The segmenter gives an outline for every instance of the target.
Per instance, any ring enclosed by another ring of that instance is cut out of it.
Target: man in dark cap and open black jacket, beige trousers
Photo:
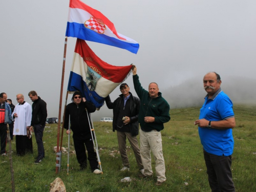
[[[121,95],[111,102],[110,96],[105,98],[106,106],[113,109],[113,132],[117,131],[117,140],[120,155],[123,162],[123,170],[130,170],[129,160],[126,154],[126,137],[129,140],[137,165],[143,173],[143,165],[140,157],[140,149],[138,145],[137,135],[139,134],[138,114],[140,109],[140,100],[134,97],[126,83],[120,86]]]

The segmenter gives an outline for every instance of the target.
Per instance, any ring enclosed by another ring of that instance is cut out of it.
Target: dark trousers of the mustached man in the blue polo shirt
[[[204,151],[208,181],[212,192],[234,192],[231,155],[217,156]]]

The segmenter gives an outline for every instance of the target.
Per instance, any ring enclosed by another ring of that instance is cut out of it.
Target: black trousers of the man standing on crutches
[[[73,134],[74,146],[76,151],[76,158],[80,167],[87,166],[87,155],[88,160],[92,169],[92,172],[98,168],[97,154],[94,151],[94,145],[91,134]]]

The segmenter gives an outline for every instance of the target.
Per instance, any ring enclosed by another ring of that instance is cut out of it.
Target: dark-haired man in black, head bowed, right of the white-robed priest
[[[42,158],[45,158],[45,148],[44,142],[42,142],[42,135],[46,126],[47,108],[46,102],[38,97],[35,91],[30,91],[28,95],[31,101],[33,101],[30,130],[34,130],[35,132],[38,156],[34,163],[38,164],[42,161]]]

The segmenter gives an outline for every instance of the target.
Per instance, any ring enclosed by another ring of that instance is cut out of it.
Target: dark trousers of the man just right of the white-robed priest
[[[35,140],[37,143],[38,158],[45,157],[44,143],[42,142],[42,135],[44,134],[45,125],[35,124],[34,126]]]

